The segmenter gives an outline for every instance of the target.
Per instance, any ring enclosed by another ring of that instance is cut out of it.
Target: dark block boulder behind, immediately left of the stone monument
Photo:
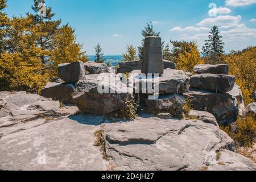
[[[118,64],[117,73],[130,73],[134,70],[141,70],[142,60],[124,61]]]

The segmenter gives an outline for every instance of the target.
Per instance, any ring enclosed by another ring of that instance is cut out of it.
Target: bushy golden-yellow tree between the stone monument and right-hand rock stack
[[[203,64],[200,52],[196,42],[171,41],[174,48],[172,49],[172,57],[176,63],[177,69],[185,70],[193,73],[196,64]]]

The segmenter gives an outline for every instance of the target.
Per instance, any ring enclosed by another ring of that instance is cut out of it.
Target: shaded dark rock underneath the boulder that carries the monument
[[[148,111],[152,113],[168,112],[174,118],[182,118],[185,97],[179,94],[159,96],[156,100],[146,99],[145,104]]]

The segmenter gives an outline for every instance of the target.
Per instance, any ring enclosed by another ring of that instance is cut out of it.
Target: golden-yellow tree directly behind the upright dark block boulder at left
[[[61,63],[72,63],[73,61],[87,62],[86,52],[81,51],[82,44],[76,43],[75,30],[68,24],[60,27],[54,36],[56,44],[52,52],[53,76],[57,76],[57,68]]]

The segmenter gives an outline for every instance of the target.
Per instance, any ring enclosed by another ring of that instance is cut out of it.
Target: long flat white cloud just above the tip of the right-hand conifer
[[[239,23],[241,21],[241,19],[242,19],[241,15],[237,15],[237,16],[230,16],[230,15],[217,16],[215,18],[203,19],[197,25],[199,25],[199,26],[214,26],[214,25],[228,26],[230,24]]]

